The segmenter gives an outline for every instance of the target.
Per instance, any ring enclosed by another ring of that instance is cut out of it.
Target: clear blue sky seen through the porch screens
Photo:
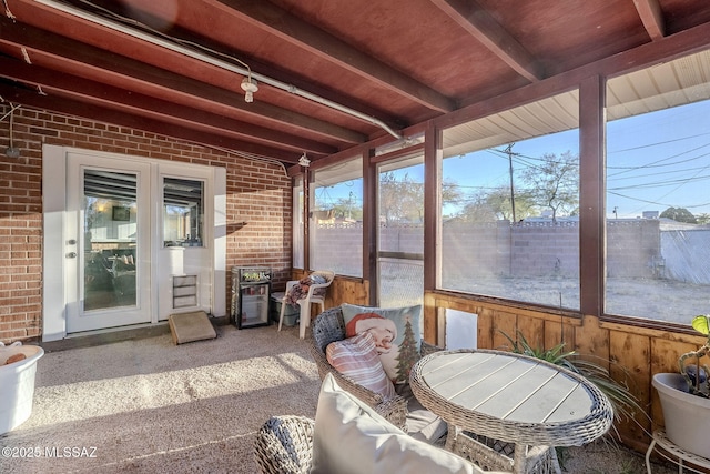
[[[509,163],[499,150],[484,150],[446,159],[445,180],[466,192],[509,185]],[[521,171],[545,153],[577,154],[578,131],[571,130],[515,143],[514,185],[523,188]],[[498,151],[496,151],[498,150]],[[635,115],[607,124],[607,216],[638,218],[669,206],[686,208],[694,215],[710,213],[710,101]],[[405,170],[424,181],[424,167]],[[398,173],[404,175],[404,172]],[[338,198],[362,203],[362,190],[353,182],[320,191],[324,204]],[[445,213],[450,212],[445,210]]]

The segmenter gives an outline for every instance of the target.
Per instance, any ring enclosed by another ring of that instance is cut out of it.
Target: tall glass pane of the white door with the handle
[[[84,170],[84,311],[135,305],[136,175]]]

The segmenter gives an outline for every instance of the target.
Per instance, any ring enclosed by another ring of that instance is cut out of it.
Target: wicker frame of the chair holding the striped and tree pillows
[[[397,395],[393,399],[385,400],[381,394],[357,384],[352,379],[339,373],[326,359],[325,347],[332,342],[345,339],[345,322],[343,321],[343,311],[341,307],[337,306],[324,311],[315,319],[311,327],[311,343],[308,344],[308,349],[318,369],[321,380],[328,373],[333,374],[339,386],[373,407],[389,423],[409,433],[407,430],[407,415],[409,414],[408,397]],[[419,352],[424,356],[440,350],[440,347],[422,341]]]

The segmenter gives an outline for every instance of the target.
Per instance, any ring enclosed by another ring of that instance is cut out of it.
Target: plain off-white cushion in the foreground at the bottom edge
[[[448,451],[413,438],[356,396],[333,375],[323,380],[315,414],[315,474],[481,473]]]

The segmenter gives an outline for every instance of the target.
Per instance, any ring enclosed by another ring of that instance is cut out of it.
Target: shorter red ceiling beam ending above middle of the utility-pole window
[[[539,61],[475,0],[432,0],[452,20],[530,82],[545,79]]]

